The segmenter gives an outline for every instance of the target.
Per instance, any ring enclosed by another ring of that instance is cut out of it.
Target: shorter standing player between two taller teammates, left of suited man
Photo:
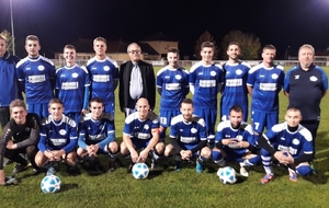
[[[88,113],[90,79],[84,67],[76,63],[76,48],[64,47],[66,65],[56,71],[56,96],[63,101],[65,115],[79,123],[81,114]]]

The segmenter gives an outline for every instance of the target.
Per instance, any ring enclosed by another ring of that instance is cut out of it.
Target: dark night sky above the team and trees
[[[10,0],[0,0],[0,31],[10,27]],[[329,47],[329,0],[12,0],[16,41],[41,38],[42,53],[79,37],[122,37],[137,42],[157,32],[180,41],[192,55],[198,36],[209,31],[219,46],[231,30],[273,44],[279,57],[287,46]]]

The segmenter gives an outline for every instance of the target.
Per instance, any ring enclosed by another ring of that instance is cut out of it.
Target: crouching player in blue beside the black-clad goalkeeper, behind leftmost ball
[[[52,99],[48,104],[50,115],[42,120],[39,151],[35,155],[35,163],[39,167],[48,167],[47,175],[56,173],[58,161],[65,160],[68,164],[67,172],[78,173],[76,167],[76,145],[78,140],[76,122],[64,115],[63,102]]]

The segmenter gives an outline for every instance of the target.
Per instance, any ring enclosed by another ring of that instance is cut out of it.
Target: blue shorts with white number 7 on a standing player
[[[251,112],[252,129],[261,134],[264,128],[271,129],[279,123],[279,113]]]

